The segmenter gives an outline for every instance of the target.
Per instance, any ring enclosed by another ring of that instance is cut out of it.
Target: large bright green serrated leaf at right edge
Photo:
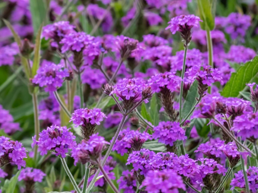
[[[246,83],[252,82],[258,73],[258,56],[254,57],[252,61],[245,63],[232,73],[229,81],[223,88],[221,95],[225,97],[237,97],[240,91],[246,87]]]

